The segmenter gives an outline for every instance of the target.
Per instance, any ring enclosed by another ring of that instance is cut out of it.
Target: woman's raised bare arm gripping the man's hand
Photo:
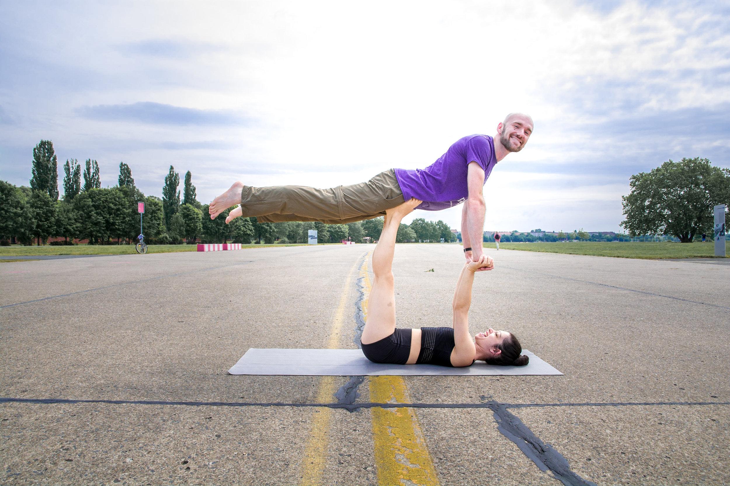
[[[469,334],[469,307],[472,305],[474,273],[480,268],[491,270],[493,267],[494,262],[491,257],[482,256],[479,262],[465,264],[456,282],[456,290],[451,303],[454,328],[454,349],[451,352],[451,364],[455,367],[468,367],[477,354],[472,335]]]

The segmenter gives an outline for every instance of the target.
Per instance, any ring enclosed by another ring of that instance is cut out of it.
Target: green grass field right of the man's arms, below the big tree
[[[730,243],[725,243],[725,254],[730,255]],[[496,248],[484,243],[484,248]],[[715,246],[707,243],[639,243],[639,242],[580,242],[580,243],[499,243],[499,248],[520,251],[543,251],[574,255],[616,256],[618,258],[712,258]]]

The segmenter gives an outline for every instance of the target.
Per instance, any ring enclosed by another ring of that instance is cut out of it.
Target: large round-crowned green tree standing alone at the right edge
[[[631,176],[623,196],[621,226],[629,235],[673,235],[690,243],[694,235],[712,232],[712,206],[730,203],[730,169],[695,157],[669,160],[650,172]]]

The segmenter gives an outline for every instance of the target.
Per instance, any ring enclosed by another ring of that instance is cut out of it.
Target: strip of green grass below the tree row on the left
[[[304,246],[289,245],[242,245],[241,248],[263,248],[266,246]],[[170,253],[173,251],[197,251],[197,245],[150,245],[147,253]],[[74,245],[74,246],[0,246],[0,259],[3,256],[37,256],[37,255],[127,255],[134,254],[134,245]],[[18,260],[12,260],[18,262]]]

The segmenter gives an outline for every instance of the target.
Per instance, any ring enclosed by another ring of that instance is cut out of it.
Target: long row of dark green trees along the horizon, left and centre
[[[377,240],[383,230],[383,218],[349,224],[320,222],[259,223],[239,217],[226,224],[228,210],[210,219],[208,205],[197,200],[192,173],[185,173],[183,197],[180,198],[180,175],[170,165],[162,188],[162,197],[145,196],[134,184],[131,168],[119,164],[118,184],[101,187],[99,163],[87,159],[82,171],[76,159],[64,164],[64,195],[58,191],[58,160],[51,141],[42,140],[33,150],[30,187],[16,187],[0,181],[0,243],[9,245],[16,239],[23,245],[45,244],[49,238],[64,238],[53,244],[134,243],[139,234],[137,203],[145,203],[143,231],[151,244],[195,243],[307,243],[309,230],[318,230],[318,240],[336,243],[348,238],[362,243],[364,238]],[[83,179],[83,182],[82,182]],[[414,219],[401,224],[396,236],[399,243],[451,242],[456,240],[445,222]]]

